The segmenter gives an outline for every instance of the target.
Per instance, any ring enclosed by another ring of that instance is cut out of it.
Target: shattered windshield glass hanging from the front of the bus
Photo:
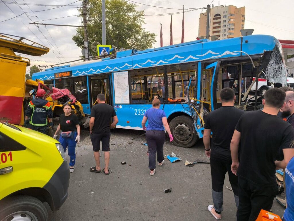
[[[271,83],[285,85],[287,82],[287,71],[284,64],[282,46],[278,42],[270,55],[270,61],[266,67],[265,74]]]

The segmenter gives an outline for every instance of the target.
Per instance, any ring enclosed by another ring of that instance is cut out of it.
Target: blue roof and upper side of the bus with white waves
[[[54,78],[55,73],[59,72],[71,71],[72,76],[84,76],[184,62],[240,57],[245,56],[245,53],[258,55],[263,54],[264,51],[273,50],[277,43],[279,44],[278,40],[269,35],[250,35],[217,41],[201,39],[143,51],[136,50],[129,52],[128,56],[120,56],[120,52],[117,52],[116,58],[113,59],[92,60],[81,62],[79,65],[55,67],[45,72],[34,73],[32,79],[50,80]]]

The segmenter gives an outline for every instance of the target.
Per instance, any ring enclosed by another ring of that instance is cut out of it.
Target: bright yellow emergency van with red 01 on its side
[[[68,195],[69,165],[55,139],[0,123],[0,221],[47,221]]]

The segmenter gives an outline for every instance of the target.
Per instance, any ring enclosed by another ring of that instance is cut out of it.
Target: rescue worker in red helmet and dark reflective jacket
[[[44,99],[45,94],[44,89],[38,89],[36,98],[29,102],[25,112],[24,126],[47,134],[47,117],[49,118],[49,126],[53,126],[53,112],[50,103]]]

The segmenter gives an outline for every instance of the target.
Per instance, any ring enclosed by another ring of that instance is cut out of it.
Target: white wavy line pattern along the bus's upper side
[[[207,57],[205,58],[206,59],[209,59],[209,58],[219,58],[219,57],[222,57],[224,55],[238,55],[238,53],[234,53],[234,52],[230,52],[230,51],[225,51],[223,52],[222,54],[220,54],[220,52],[213,52],[211,50],[208,50],[207,52],[205,52],[204,54],[202,55],[195,55],[196,57],[194,57],[193,55],[188,55],[188,56],[179,56],[179,55],[174,55],[172,58],[169,58],[169,59],[163,59],[163,60],[159,60],[159,61],[152,61],[150,59],[148,59],[147,61],[143,62],[143,63],[138,63],[138,64],[135,64],[135,65],[130,65],[128,63],[125,63],[123,66],[118,66],[118,67],[109,67],[108,65],[103,68],[103,69],[97,69],[97,70],[94,70],[94,69],[90,69],[88,71],[83,71],[83,72],[80,72],[80,71],[76,71],[73,73],[73,76],[75,75],[87,75],[87,74],[96,74],[97,72],[112,72],[114,70],[121,70],[123,69],[124,67],[128,67],[129,69],[133,69],[135,67],[143,67],[143,65],[146,65],[147,63],[151,63],[152,66],[156,66],[156,65],[159,65],[161,63],[163,64],[168,64],[168,63],[175,63],[175,62],[185,62],[189,59],[193,59],[193,60],[198,60],[198,59],[201,59],[201,57],[204,57],[208,54],[211,54],[210,57]],[[220,54],[220,55],[219,55]],[[215,55],[215,56],[213,56]],[[175,60],[176,59],[176,60]],[[180,59],[183,59],[183,60],[180,60]],[[173,61],[173,62],[172,62]],[[48,80],[48,79],[52,79],[54,78],[53,76],[50,76],[50,77],[47,77],[46,75],[43,77],[43,78],[40,78],[40,80]]]

